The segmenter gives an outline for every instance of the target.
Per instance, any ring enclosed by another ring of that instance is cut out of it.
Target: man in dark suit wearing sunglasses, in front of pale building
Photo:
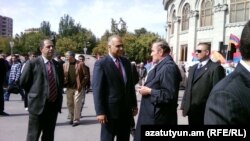
[[[198,44],[195,53],[200,63],[189,69],[181,109],[183,116],[188,115],[189,125],[203,125],[207,98],[215,84],[225,77],[225,70],[209,59],[209,44]]]

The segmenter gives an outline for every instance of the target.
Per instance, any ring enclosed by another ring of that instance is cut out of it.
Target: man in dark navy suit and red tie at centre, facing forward
[[[108,39],[109,55],[98,60],[93,72],[93,95],[101,141],[128,141],[131,118],[137,114],[131,63],[123,55],[121,37]]]

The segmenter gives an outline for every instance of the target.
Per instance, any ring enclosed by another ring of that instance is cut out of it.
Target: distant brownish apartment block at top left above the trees
[[[12,18],[0,15],[0,36],[12,37],[13,20]]]

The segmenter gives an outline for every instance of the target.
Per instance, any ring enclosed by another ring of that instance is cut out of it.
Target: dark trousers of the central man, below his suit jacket
[[[102,124],[101,141],[129,141],[130,119],[108,119],[107,124]]]

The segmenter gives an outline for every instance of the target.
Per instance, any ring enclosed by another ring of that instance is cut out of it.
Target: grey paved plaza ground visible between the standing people
[[[179,94],[178,102],[180,105],[183,90]],[[140,104],[140,96],[137,95],[137,98],[138,104]],[[68,110],[66,95],[64,94],[62,113],[58,115],[55,130],[55,141],[100,140],[100,124],[96,121],[92,93],[86,95],[85,103],[80,125],[72,127],[67,119]],[[0,141],[25,141],[28,127],[28,112],[24,109],[20,95],[12,94],[10,96],[10,101],[5,102],[5,112],[9,113],[10,116],[0,116]],[[187,119],[181,116],[179,108],[178,115],[178,123],[187,124]],[[133,140],[132,136],[131,140]]]

